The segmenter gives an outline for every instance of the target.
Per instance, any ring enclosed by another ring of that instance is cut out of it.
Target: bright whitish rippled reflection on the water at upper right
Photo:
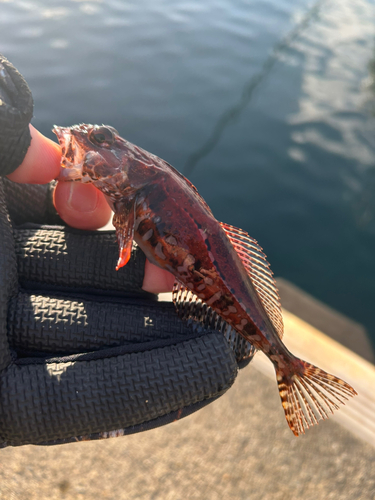
[[[343,0],[340,7],[338,11],[328,3],[321,22],[294,45],[304,56],[304,71],[299,110],[288,122],[297,126],[293,140],[300,145],[313,144],[373,165],[375,143],[363,137],[373,123],[364,123],[361,87],[367,77],[366,39],[373,37],[374,7],[361,0]]]

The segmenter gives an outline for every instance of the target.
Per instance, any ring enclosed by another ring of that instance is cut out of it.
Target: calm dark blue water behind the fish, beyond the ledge
[[[0,1],[33,123],[166,159],[375,342],[373,0]]]

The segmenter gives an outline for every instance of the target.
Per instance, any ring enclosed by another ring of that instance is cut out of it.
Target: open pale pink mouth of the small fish
[[[71,127],[58,127],[52,129],[57,136],[62,150],[61,169],[56,180],[58,181],[90,181],[83,176],[85,153],[77,138],[72,133]]]

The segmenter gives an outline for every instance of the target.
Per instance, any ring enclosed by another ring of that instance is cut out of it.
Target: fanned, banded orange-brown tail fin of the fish
[[[304,434],[318,420],[329,417],[339,404],[355,396],[356,391],[346,382],[324,370],[301,362],[299,373],[285,375],[276,370],[281,403],[289,427],[295,436]]]

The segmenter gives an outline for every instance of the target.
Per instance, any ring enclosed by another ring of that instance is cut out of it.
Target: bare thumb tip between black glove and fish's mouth
[[[47,184],[60,172],[61,148],[31,124],[31,143],[21,165],[7,177],[13,182]]]

